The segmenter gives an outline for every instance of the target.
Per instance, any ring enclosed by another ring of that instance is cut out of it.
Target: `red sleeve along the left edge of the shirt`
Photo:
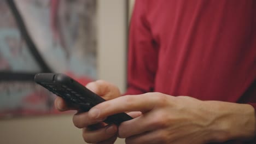
[[[136,1],[129,31],[128,87],[125,94],[154,91],[158,44],[152,36],[146,13],[147,1]]]

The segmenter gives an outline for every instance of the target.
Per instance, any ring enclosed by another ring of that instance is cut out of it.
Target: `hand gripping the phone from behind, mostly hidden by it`
[[[100,95],[105,100],[120,97],[118,87],[112,83],[103,80],[97,80],[88,83],[86,88],[90,91]],[[73,107],[68,106],[65,101],[57,97],[55,99],[55,107],[59,111],[74,110]],[[95,121],[88,116],[88,112],[77,112],[73,116],[73,123],[75,127],[83,129],[83,138],[88,143],[114,143],[117,139],[118,127],[114,124],[106,124],[101,121]]]

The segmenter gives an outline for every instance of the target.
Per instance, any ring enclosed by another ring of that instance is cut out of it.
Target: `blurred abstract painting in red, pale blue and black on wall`
[[[96,13],[95,0],[0,1],[1,118],[58,113],[36,73],[96,79]]]

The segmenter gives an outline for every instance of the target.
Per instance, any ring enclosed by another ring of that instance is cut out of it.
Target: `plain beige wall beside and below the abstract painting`
[[[126,1],[98,2],[98,76],[125,90]],[[73,126],[72,115],[0,120],[0,143],[84,143],[82,131]],[[118,140],[116,143],[124,143]]]

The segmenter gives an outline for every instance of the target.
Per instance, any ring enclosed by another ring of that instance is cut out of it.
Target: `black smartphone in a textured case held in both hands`
[[[82,112],[89,111],[91,107],[106,101],[65,74],[39,73],[34,76],[34,81]],[[130,119],[132,117],[123,112],[107,117],[104,122],[119,125]]]

